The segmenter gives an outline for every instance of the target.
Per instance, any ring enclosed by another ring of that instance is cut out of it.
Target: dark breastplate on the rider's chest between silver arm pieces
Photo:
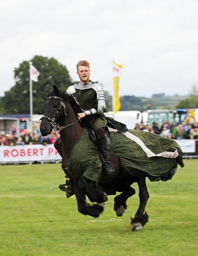
[[[92,108],[97,110],[97,93],[93,88],[86,90],[80,90],[76,88],[73,96],[76,98],[77,102],[80,104],[84,111]]]

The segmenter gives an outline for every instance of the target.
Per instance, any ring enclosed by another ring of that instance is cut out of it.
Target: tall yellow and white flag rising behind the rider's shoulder
[[[117,64],[113,61],[113,110],[114,113],[117,113],[121,107],[120,104],[120,84],[119,84],[119,75],[120,75],[120,68],[122,65]]]

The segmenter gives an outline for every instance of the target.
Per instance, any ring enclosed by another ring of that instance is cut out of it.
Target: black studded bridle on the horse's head
[[[61,109],[63,108],[63,111],[64,111],[64,115],[65,115],[65,116],[67,116],[67,113],[66,113],[66,106],[65,106],[65,104],[64,104],[62,98],[60,98],[60,97],[58,97],[58,96],[49,96],[49,97],[47,97],[47,100],[52,100],[52,99],[61,100],[61,101],[60,101],[60,105],[59,105],[59,107],[58,107],[58,110],[56,111],[56,114],[53,116],[53,118],[49,118],[49,117],[43,115],[40,120],[42,120],[42,119],[44,119],[44,118],[48,119],[48,121],[50,121],[50,124],[51,124],[51,126],[52,126],[52,128],[53,128],[54,130],[62,130],[62,129],[64,129],[64,128],[73,126],[73,125],[75,125],[76,123],[78,123],[78,122],[80,121],[80,119],[79,119],[79,120],[77,120],[77,121],[75,121],[75,122],[73,122],[73,123],[71,123],[71,124],[69,124],[69,125],[61,126],[61,127],[59,127],[59,128],[56,128],[57,124],[55,123],[55,117],[56,117],[56,115],[58,114],[59,110],[61,110]]]

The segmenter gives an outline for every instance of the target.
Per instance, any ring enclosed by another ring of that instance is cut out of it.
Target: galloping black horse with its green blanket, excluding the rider
[[[88,130],[80,126],[81,119],[77,120],[81,111],[73,96],[53,85],[44,105],[40,130],[47,136],[59,125],[62,147],[58,147],[58,140],[54,147],[62,156],[66,175],[66,183],[59,188],[66,192],[67,198],[75,194],[80,213],[96,218],[103,211],[100,203],[107,199],[104,192],[107,195],[121,192],[114,198],[114,210],[117,216],[122,216],[127,199],[135,194],[131,185],[138,183],[140,203],[131,222],[132,230],[138,230],[148,222],[146,178],[150,181],[172,179],[178,164],[184,166],[182,150],[174,140],[141,130],[124,131],[120,126],[116,128],[120,132],[110,132],[109,156],[115,172],[101,175],[98,145],[89,138]],[[110,122],[107,119],[108,127],[114,125],[112,120]],[[71,182],[71,188],[67,181]],[[86,196],[94,204],[87,203]]]

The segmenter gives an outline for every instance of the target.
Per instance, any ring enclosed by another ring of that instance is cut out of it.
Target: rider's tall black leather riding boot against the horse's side
[[[108,148],[109,145],[105,134],[103,137],[99,138],[99,151],[104,159],[103,168],[106,174],[115,172],[109,160]]]

